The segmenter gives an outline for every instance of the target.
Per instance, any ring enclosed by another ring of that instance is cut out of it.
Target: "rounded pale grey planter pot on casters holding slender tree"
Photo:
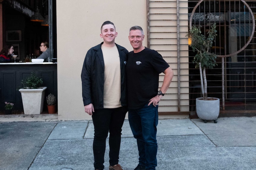
[[[219,116],[219,98],[215,98],[216,100],[199,99],[196,98],[196,113],[199,119],[216,120]]]

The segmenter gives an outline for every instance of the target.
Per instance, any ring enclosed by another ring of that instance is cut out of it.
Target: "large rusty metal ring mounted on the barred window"
[[[192,27],[192,18],[193,18],[192,16],[194,15],[196,8],[197,8],[197,7],[199,6],[199,4],[201,4],[201,2],[203,2],[203,1],[204,1],[204,0],[200,0],[200,1],[196,4],[196,6],[194,7],[194,9],[193,9],[193,11],[192,11],[192,13],[191,13],[191,16],[190,16],[190,20],[189,20],[189,28]],[[254,15],[253,15],[253,13],[252,13],[252,9],[249,7],[249,5],[248,5],[244,0],[240,0],[240,1],[242,1],[242,2],[244,3],[244,5],[248,8],[248,10],[249,10],[249,12],[250,12],[250,14],[251,14],[251,16],[252,16],[252,34],[251,34],[251,36],[250,36],[250,39],[247,41],[247,43],[246,43],[240,50],[236,51],[235,53],[228,54],[228,55],[217,55],[218,57],[230,57],[230,56],[236,55],[236,54],[240,53],[241,51],[243,51],[243,50],[248,46],[248,44],[251,42],[251,40],[252,40],[252,37],[253,37],[253,34],[254,34],[254,30],[255,30],[255,18],[254,18]]]

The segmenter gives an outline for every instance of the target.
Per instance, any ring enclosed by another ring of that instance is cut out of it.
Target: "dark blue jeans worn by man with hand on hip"
[[[147,104],[141,109],[129,109],[129,124],[133,136],[137,139],[139,165],[147,170],[155,170],[157,166],[157,124],[158,106]]]

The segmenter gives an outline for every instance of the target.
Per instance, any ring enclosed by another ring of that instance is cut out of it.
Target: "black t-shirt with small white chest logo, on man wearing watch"
[[[140,109],[157,95],[159,74],[168,67],[155,50],[145,48],[138,53],[129,52],[126,64],[129,109]]]

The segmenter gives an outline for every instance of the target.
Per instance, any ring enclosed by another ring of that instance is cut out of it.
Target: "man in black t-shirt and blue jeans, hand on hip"
[[[139,151],[139,163],[134,170],[155,170],[158,102],[169,88],[173,71],[157,51],[143,47],[143,40],[142,28],[131,27],[129,41],[133,51],[129,52],[126,65],[128,118]],[[165,77],[158,91],[161,72]]]

